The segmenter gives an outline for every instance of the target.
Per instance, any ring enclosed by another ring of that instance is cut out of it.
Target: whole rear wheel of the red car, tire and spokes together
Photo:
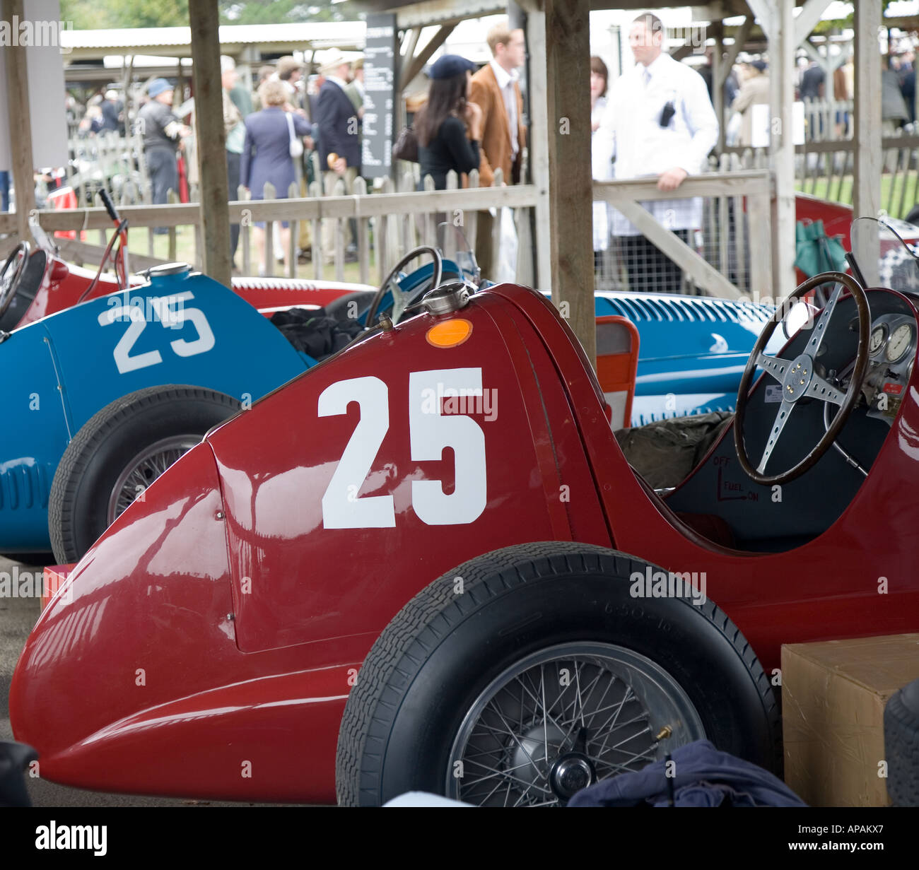
[[[750,643],[711,601],[637,601],[631,578],[651,567],[536,541],[428,583],[380,633],[348,695],[338,803],[423,791],[562,807],[694,740],[776,770],[776,695]]]

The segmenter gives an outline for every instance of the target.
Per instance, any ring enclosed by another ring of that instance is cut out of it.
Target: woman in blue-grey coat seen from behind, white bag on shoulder
[[[252,193],[253,199],[265,198],[264,188],[271,184],[278,199],[286,199],[288,188],[297,180],[293,158],[290,156],[292,136],[298,141],[309,136],[310,124],[293,112],[284,110],[289,95],[283,82],[264,82],[258,89],[258,96],[265,107],[245,119],[245,141],[240,156],[240,183]],[[281,243],[284,247],[285,267],[289,255],[288,222],[282,224]],[[255,224],[255,250],[258,255],[260,274],[265,266],[265,223]]]

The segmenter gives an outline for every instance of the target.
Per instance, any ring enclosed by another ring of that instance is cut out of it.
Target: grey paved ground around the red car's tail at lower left
[[[17,564],[0,557],[0,571]],[[20,565],[20,571],[28,566]],[[38,599],[0,597],[0,740],[13,740],[9,723],[9,683],[28,632],[39,618]],[[244,807],[251,804],[219,803],[161,797],[107,795],[57,785],[40,778],[28,779],[28,792],[36,807]]]

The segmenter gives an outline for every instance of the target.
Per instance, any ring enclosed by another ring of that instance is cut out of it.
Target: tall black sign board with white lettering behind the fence
[[[364,143],[360,163],[360,172],[365,178],[379,178],[390,175],[391,171],[398,45],[394,15],[367,17],[367,41],[364,47]]]

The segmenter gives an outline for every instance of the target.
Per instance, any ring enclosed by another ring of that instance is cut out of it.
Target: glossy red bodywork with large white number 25
[[[39,749],[42,775],[333,802],[341,714],[374,639],[441,575],[455,583],[457,565],[521,542],[705,571],[766,672],[782,643],[919,627],[912,384],[828,531],[742,553],[698,537],[642,486],[550,302],[500,285],[461,316],[471,333],[456,347],[425,341],[438,318],[422,314],[313,367],[213,431],[96,542],[10,688],[17,739]],[[451,386],[476,384],[480,404],[459,407]],[[421,387],[433,389],[426,410]]]

